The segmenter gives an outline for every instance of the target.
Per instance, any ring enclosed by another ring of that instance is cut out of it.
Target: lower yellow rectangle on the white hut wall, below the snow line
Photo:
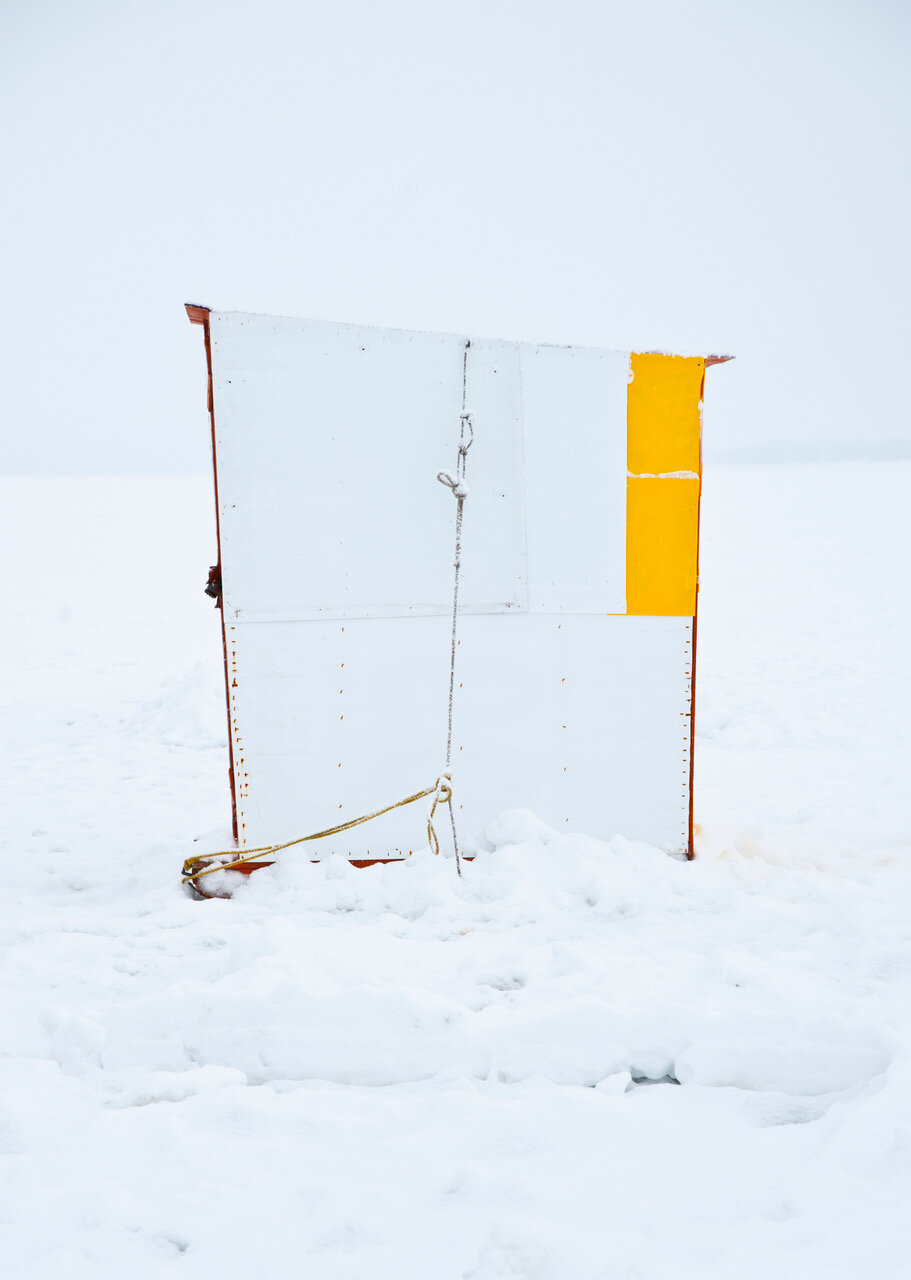
[[[627,480],[627,613],[696,612],[700,480]]]

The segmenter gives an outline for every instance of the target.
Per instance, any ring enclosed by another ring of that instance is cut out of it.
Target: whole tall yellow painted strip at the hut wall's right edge
[[[627,393],[627,613],[692,617],[705,361],[633,355]]]

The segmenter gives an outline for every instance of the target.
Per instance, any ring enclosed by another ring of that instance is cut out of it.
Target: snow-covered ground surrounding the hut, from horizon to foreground
[[[910,489],[709,468],[693,864],[513,814],[194,902],[209,481],[3,481],[4,1276],[906,1276]]]

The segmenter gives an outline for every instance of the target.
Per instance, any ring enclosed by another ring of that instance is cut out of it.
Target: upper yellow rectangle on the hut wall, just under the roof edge
[[[700,471],[701,356],[632,355],[627,389],[627,470]]]

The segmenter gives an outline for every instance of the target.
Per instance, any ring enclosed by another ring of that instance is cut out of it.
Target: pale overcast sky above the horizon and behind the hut
[[[3,470],[209,466],[183,302],[734,352],[709,448],[911,440],[902,0],[6,0]]]

